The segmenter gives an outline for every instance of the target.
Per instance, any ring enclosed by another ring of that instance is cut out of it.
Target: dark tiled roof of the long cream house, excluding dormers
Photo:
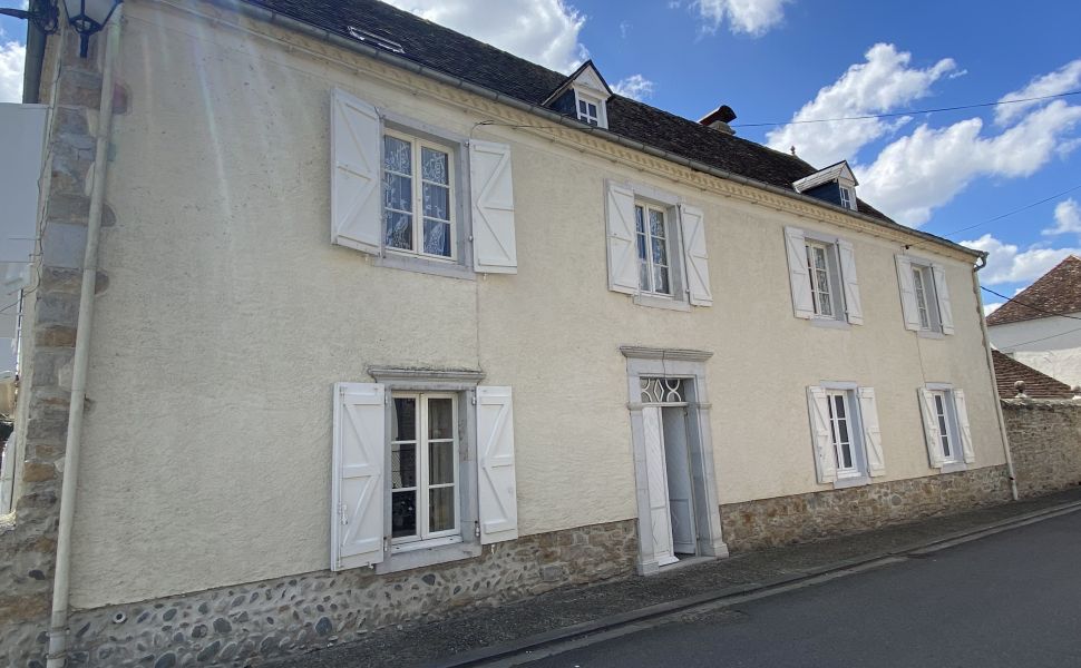
[[[559,72],[374,0],[243,1],[347,38],[350,26],[373,32],[401,45],[401,58],[533,105],[542,104],[567,79]],[[613,96],[607,109],[608,129],[617,135],[762,184],[795,191],[792,181],[817,171],[795,156],[630,98]],[[863,202],[858,203],[858,210],[889,220]]]

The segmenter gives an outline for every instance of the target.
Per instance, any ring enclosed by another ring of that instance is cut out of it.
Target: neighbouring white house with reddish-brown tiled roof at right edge
[[[1064,317],[1063,317],[1064,316]],[[1071,255],[987,316],[991,345],[1081,385],[1081,257]]]

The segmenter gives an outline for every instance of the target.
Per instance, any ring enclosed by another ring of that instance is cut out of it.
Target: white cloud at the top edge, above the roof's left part
[[[387,0],[399,9],[569,73],[587,57],[586,17],[564,0]]]

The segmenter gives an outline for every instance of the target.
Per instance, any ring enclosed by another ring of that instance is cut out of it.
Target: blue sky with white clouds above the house
[[[554,69],[590,57],[610,84],[688,118],[727,104],[740,136],[814,164],[846,158],[870,204],[990,250],[981,278],[1003,294],[1081,253],[1081,188],[983,224],[1081,186],[1081,95],[914,112],[1081,90],[1081,2],[391,1]],[[0,18],[0,101],[12,101],[26,27]],[[910,114],[738,127],[895,112]]]

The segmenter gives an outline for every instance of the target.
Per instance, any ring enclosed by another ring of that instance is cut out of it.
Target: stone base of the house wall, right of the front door
[[[733,552],[831,538],[1010,500],[1006,468],[991,466],[827,492],[721,505]]]

